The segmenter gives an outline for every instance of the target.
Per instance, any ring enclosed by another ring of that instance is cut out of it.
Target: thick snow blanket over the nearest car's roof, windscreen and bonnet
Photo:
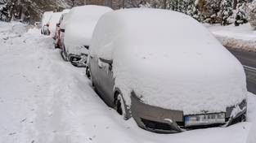
[[[128,104],[134,90],[147,104],[198,114],[226,111],[247,93],[239,61],[200,23],[174,11],[107,13],[90,54],[113,59],[115,86]]]

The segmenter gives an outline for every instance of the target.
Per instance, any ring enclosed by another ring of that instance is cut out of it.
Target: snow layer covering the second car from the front
[[[101,15],[112,11],[106,6],[77,6],[65,20],[65,47],[70,54],[87,52],[83,45],[90,45],[92,32]]]

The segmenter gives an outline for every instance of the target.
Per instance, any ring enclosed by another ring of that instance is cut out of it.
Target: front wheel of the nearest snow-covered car
[[[124,103],[124,98],[120,93],[116,96],[115,99],[115,111],[119,113],[119,115],[122,115],[125,120],[128,119],[128,114],[126,113],[126,107]]]

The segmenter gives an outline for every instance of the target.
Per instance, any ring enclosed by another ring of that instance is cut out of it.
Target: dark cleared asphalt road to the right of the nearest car
[[[256,94],[256,53],[228,49],[245,67],[247,89]]]

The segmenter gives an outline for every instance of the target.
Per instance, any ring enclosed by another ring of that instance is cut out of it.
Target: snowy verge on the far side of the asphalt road
[[[242,49],[256,52],[256,30],[250,24],[242,24],[238,27],[233,24],[221,26],[219,24],[205,24],[209,31],[228,48]]]

